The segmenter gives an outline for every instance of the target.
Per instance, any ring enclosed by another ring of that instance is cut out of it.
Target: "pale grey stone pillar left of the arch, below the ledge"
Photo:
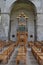
[[[5,40],[8,40],[8,32],[9,32],[9,21],[10,21],[10,15],[8,13],[2,13],[2,23],[3,28],[5,30]]]

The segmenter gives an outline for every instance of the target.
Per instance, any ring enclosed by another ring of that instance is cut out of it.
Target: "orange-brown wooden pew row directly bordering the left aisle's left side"
[[[11,44],[8,49],[6,49],[5,51],[3,51],[2,54],[0,54],[0,63],[7,63],[13,50],[15,48],[15,44]]]

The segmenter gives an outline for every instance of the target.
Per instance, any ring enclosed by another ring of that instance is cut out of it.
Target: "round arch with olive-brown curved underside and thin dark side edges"
[[[26,10],[30,10],[33,12],[33,15],[34,15],[34,41],[37,40],[37,26],[36,26],[36,18],[37,18],[37,10],[36,10],[36,7],[35,5],[31,2],[31,1],[26,1],[26,0],[17,0],[15,1],[11,8],[10,8],[10,17],[11,17],[11,14],[19,9],[26,9]],[[10,31],[11,31],[11,20],[10,20],[10,25],[9,25],[9,39],[10,39]]]

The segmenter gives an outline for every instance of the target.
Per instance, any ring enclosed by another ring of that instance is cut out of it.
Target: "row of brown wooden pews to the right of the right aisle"
[[[34,57],[37,59],[40,65],[43,65],[43,46],[39,42],[35,42],[35,44],[31,47],[32,53]]]

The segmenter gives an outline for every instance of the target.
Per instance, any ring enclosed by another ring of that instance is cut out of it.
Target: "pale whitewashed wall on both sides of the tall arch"
[[[4,34],[7,39],[8,39],[8,30],[9,30],[9,21],[10,21],[10,16],[8,14],[10,13],[14,2],[15,0],[6,0],[6,1],[0,0],[0,8],[1,8],[1,12],[3,13],[1,14],[2,16],[1,22],[3,23],[2,26],[4,28]],[[43,18],[42,18],[43,17],[43,0],[31,0],[31,2],[35,4],[37,9],[37,40],[43,40],[43,29],[42,29],[43,28]]]

